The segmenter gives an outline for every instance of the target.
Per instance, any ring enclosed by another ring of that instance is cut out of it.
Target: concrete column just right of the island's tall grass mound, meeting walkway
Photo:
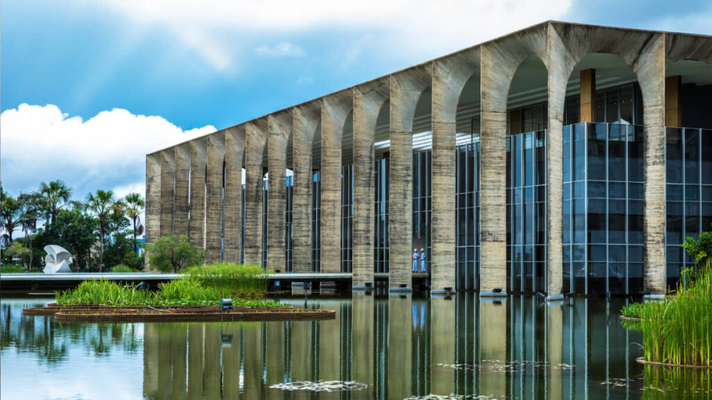
[[[269,202],[267,204],[267,265],[271,270],[286,270],[285,223],[287,141],[292,133],[292,115],[281,112],[267,118],[269,139],[267,163]]]

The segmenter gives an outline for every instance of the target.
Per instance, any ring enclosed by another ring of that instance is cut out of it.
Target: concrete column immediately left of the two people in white
[[[413,118],[431,80],[431,64],[391,75],[388,285],[395,290],[412,289]]]

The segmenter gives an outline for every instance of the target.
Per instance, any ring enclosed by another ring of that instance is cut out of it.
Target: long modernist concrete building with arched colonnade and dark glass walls
[[[712,223],[712,37],[548,21],[147,155],[147,243],[434,291],[662,294]],[[245,172],[243,174],[243,171]]]

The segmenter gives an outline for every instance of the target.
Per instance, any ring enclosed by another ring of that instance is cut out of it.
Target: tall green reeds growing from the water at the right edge
[[[623,315],[637,315],[647,361],[712,366],[712,270],[698,270],[688,288],[679,285],[674,298],[636,303]]]

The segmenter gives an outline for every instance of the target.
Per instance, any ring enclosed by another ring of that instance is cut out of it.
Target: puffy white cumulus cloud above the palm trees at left
[[[145,194],[145,154],[214,132],[211,125],[182,130],[158,116],[115,108],[88,120],[56,105],[28,105],[0,115],[2,184],[17,194],[40,181],[63,179],[74,198],[112,189]]]

